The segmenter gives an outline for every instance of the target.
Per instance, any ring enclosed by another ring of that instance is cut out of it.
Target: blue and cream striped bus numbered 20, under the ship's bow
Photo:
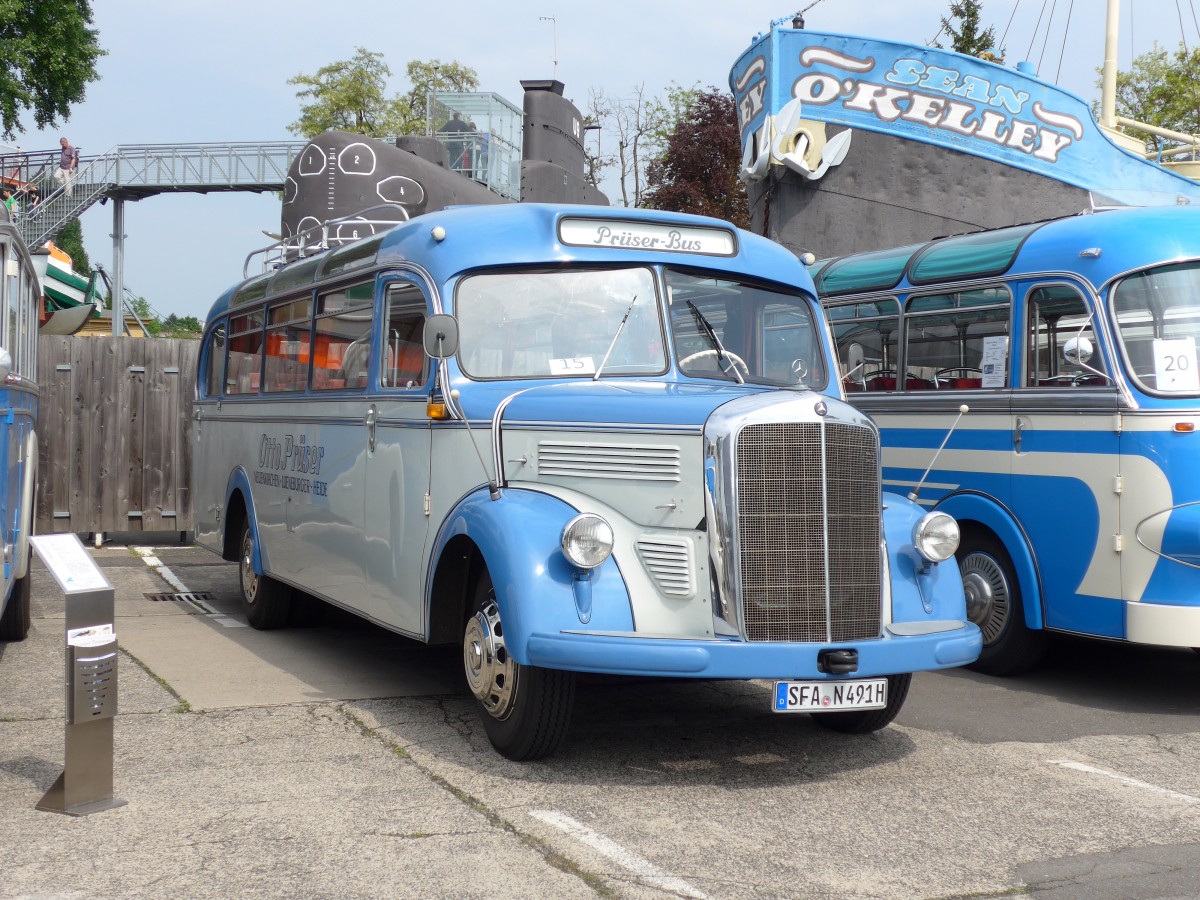
[[[1200,209],[1110,209],[815,264],[883,479],[954,516],[977,668],[1048,632],[1200,647]],[[961,404],[970,412],[947,440]]]

